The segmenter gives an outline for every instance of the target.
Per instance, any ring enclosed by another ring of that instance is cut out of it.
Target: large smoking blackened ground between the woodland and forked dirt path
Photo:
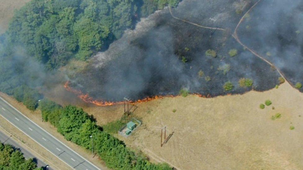
[[[180,22],[165,9],[152,17],[156,22],[153,28],[146,28],[147,32],[134,38],[114,42],[113,46],[116,43],[116,46],[125,47],[121,51],[110,48],[118,52],[115,56],[106,56],[112,59],[100,67],[96,67],[100,60],[92,59],[85,71],[72,79],[71,85],[93,98],[106,101],[121,101],[123,97],[137,100],[155,95],[176,95],[181,88],[210,96],[241,94],[252,88],[259,91],[273,88],[278,84],[278,72],[244,50],[231,36],[242,17],[236,14],[233,2],[185,0],[173,10],[179,18],[227,29],[225,32]],[[243,11],[248,10],[254,2]],[[210,17],[217,20],[212,21]],[[240,37],[242,34],[238,33]],[[185,50],[186,47],[190,50]],[[238,55],[230,57],[228,51],[234,48],[238,50]],[[208,49],[215,50],[217,57],[206,56]],[[188,62],[183,63],[182,56]],[[231,66],[226,75],[218,70],[224,64]],[[199,70],[204,72],[202,78],[198,76]],[[206,81],[206,76],[210,76],[211,81]],[[238,80],[242,77],[253,79],[253,87],[239,87]],[[222,86],[227,81],[235,85],[232,91],[224,91]]]

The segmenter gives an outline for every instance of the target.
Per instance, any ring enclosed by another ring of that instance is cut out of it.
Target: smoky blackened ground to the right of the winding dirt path
[[[244,44],[272,62],[293,85],[303,82],[302,11],[302,0],[264,0],[251,11],[250,19],[238,31]]]

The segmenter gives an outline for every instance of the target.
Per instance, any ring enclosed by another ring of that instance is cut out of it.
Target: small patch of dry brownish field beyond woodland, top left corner
[[[14,10],[21,8],[30,0],[0,0],[0,34],[4,33],[14,16]]]

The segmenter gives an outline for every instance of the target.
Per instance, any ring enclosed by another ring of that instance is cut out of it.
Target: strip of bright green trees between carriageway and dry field
[[[91,150],[93,148],[108,168],[113,169],[172,169],[166,163],[150,163],[146,157],[135,153],[119,139],[98,127],[92,117],[75,106],[61,107],[55,102],[42,100],[39,108],[44,121],[49,121],[66,140]]]

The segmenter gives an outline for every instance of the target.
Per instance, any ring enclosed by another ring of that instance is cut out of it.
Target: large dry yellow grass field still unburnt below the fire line
[[[273,104],[260,109],[267,99]],[[164,98],[138,104],[142,127],[119,138],[179,169],[302,169],[302,99],[287,83],[243,95]],[[276,113],[282,117],[271,120]],[[164,126],[174,134],[161,148]]]

